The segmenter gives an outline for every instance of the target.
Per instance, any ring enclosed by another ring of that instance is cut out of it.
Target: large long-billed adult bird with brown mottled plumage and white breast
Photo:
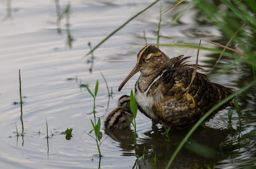
[[[140,71],[141,75],[135,85],[135,100],[138,109],[152,120],[153,125],[160,123],[163,126],[185,127],[195,124],[204,113],[232,91],[211,82],[208,76],[198,72],[189,87],[195,69],[195,64],[188,63],[187,59],[190,57],[180,55],[170,59],[157,47],[147,45],[139,51],[137,64],[118,91]],[[212,115],[227,105],[228,103]]]

